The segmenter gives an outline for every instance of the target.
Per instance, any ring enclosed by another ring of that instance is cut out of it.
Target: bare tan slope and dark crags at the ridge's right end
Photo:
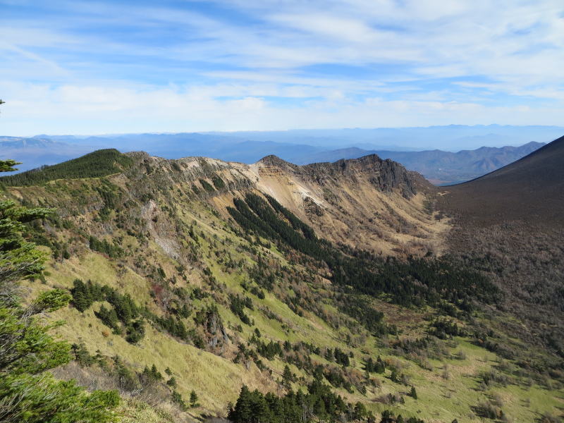
[[[372,154],[296,166],[269,156],[248,169],[256,176],[258,190],[326,239],[386,255],[441,250],[441,235],[448,226],[425,210],[425,192],[431,185],[391,160]]]

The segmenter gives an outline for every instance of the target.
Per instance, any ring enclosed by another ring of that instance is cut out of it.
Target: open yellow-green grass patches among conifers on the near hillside
[[[96,184],[97,181],[92,181]],[[49,203],[56,201],[63,202],[73,201],[73,195],[68,190],[68,185],[76,183],[59,182],[59,188],[52,185],[47,188],[20,188],[18,193],[26,198],[35,198],[44,200]],[[55,187],[55,188],[53,188]],[[188,189],[186,189],[188,191]],[[245,278],[238,271],[226,273],[221,270],[221,266],[216,263],[214,252],[215,247],[212,246],[211,240],[217,236],[218,241],[231,240],[231,244],[221,245],[221,249],[226,249],[233,259],[243,258],[247,262],[251,260],[247,252],[240,252],[237,245],[247,243],[236,237],[233,232],[228,231],[224,221],[214,216],[209,209],[200,202],[188,202],[185,197],[171,191],[174,203],[176,204],[176,216],[186,224],[197,221],[196,231],[200,235],[200,252],[204,262],[206,262],[212,274],[219,283],[224,283],[226,289],[233,293],[243,293],[244,290],[240,286],[240,282]],[[161,201],[164,201],[161,199]],[[51,203],[52,204],[52,203]],[[170,203],[169,203],[170,204]],[[89,214],[90,213],[90,214]],[[92,223],[92,216],[96,212],[85,213],[87,226],[96,226]],[[160,219],[160,216],[159,216]],[[78,223],[78,221],[77,221]],[[205,238],[202,237],[202,234]],[[135,238],[128,238],[123,231],[114,233],[124,236],[124,244],[130,244],[130,248],[135,250],[137,241]],[[68,231],[60,231],[59,238],[70,240],[75,236],[73,229]],[[188,283],[180,278],[180,274],[175,270],[176,261],[171,259],[166,252],[156,243],[149,243],[145,249],[140,249],[135,255],[151,262],[158,262],[166,271],[167,275],[176,273],[178,276],[178,286],[204,286],[198,269],[188,271]],[[269,255],[277,257],[282,263],[286,263],[286,259],[281,257],[280,252],[274,247],[269,250]],[[74,278],[82,278],[82,280],[92,279],[99,283],[108,284],[118,289],[121,293],[130,293],[137,303],[146,304],[159,312],[159,307],[154,304],[149,295],[150,283],[140,271],[131,264],[131,262],[120,263],[119,260],[109,259],[97,252],[90,252],[86,247],[77,248],[74,257],[60,262],[51,262],[49,268],[49,276],[47,276],[47,286],[63,286],[69,288]],[[125,269],[123,268],[125,266]],[[299,266],[298,266],[299,267]],[[30,283],[34,290],[41,290],[45,286],[39,283]],[[412,384],[417,388],[419,396],[418,400],[405,396],[405,404],[403,405],[382,405],[374,403],[374,399],[386,393],[407,393],[409,387],[395,384],[387,379],[389,371],[386,375],[373,376],[381,381],[381,388],[369,389],[367,396],[363,396],[358,391],[352,394],[343,390],[339,390],[341,395],[348,400],[362,400],[366,402],[368,407],[374,411],[392,409],[401,413],[404,417],[417,415],[426,421],[432,422],[450,422],[458,419],[459,422],[480,422],[479,417],[475,417],[471,411],[471,407],[476,405],[480,399],[486,398],[488,395],[497,393],[503,398],[505,405],[503,410],[513,419],[514,422],[531,422],[538,417],[539,412],[551,411],[555,412],[557,406],[563,405],[562,393],[560,391],[547,391],[539,386],[530,388],[522,388],[520,386],[497,386],[486,392],[478,391],[478,375],[486,369],[492,369],[500,361],[495,354],[489,353],[483,348],[468,343],[467,341],[458,340],[458,346],[452,348],[453,352],[462,350],[466,354],[465,360],[429,360],[433,367],[432,370],[424,370],[413,362],[409,362],[402,358],[393,357],[393,351],[386,347],[386,339],[376,339],[364,331],[360,330],[365,341],[361,345],[353,346],[347,343],[346,336],[350,335],[355,341],[360,339],[359,333],[352,333],[350,329],[342,326],[339,329],[333,329],[326,324],[325,321],[312,313],[305,312],[304,317],[300,317],[293,313],[288,305],[278,300],[275,295],[266,293],[264,300],[259,300],[254,295],[252,297],[255,303],[255,310],[248,312],[250,317],[255,320],[255,326],[243,325],[243,333],[237,333],[232,329],[228,329],[233,337],[250,338],[252,330],[257,327],[263,339],[274,339],[275,341],[289,340],[291,342],[306,341],[314,343],[321,347],[330,346],[349,351],[352,350],[355,359],[353,360],[354,368],[362,374],[361,357],[369,354],[372,357],[382,355],[385,359],[398,360],[405,369],[403,372],[410,376]],[[208,299],[209,300],[209,299]],[[207,300],[203,300],[206,302]],[[195,301],[195,307],[200,306],[200,301]],[[258,306],[266,307],[266,309],[274,312],[284,322],[289,329],[284,329],[278,321],[269,319],[260,312]],[[387,319],[395,321],[400,328],[405,329],[407,333],[421,333],[425,321],[417,319],[418,312],[407,311],[410,319],[405,318],[404,311],[398,307],[379,303],[376,306],[386,310]],[[242,384],[247,384],[251,388],[259,388],[262,391],[278,391],[281,388],[276,384],[284,367],[283,362],[276,359],[269,362],[262,359],[267,367],[273,370],[273,375],[269,376],[267,372],[260,372],[255,364],[250,369],[245,369],[242,364],[235,364],[231,360],[232,355],[226,354],[226,357],[220,357],[212,353],[199,350],[192,345],[180,343],[168,336],[147,326],[147,335],[140,342],[140,345],[130,345],[121,336],[107,334],[108,330],[96,317],[94,317],[94,309],[99,307],[99,303],[94,305],[87,312],[81,314],[76,309],[68,308],[54,314],[54,318],[65,319],[68,321],[66,326],[59,329],[59,333],[63,338],[69,341],[78,341],[79,338],[85,341],[87,348],[94,353],[99,349],[106,355],[115,355],[118,353],[123,357],[125,362],[135,367],[137,370],[142,369],[145,365],[157,364],[161,372],[165,367],[170,367],[174,376],[178,381],[178,391],[185,397],[192,389],[197,391],[200,396],[202,407],[192,410],[192,414],[200,414],[203,412],[212,412],[223,414],[229,401],[234,401]],[[327,305],[327,309],[338,313],[331,306]],[[233,315],[228,306],[219,304],[219,311],[226,328],[233,328],[240,324],[240,319]],[[390,337],[390,339],[393,337]],[[384,342],[383,342],[384,341]],[[326,363],[322,357],[312,356],[314,361]],[[448,366],[449,379],[443,378],[444,368]],[[291,367],[293,372],[298,376],[305,376],[296,367]],[[295,385],[295,387],[298,387]],[[525,400],[530,400],[527,406]],[[147,417],[147,421],[166,421],[164,417],[159,417],[154,410],[143,411],[142,405],[135,405],[132,402],[124,405],[126,415],[135,415],[135,412],[152,413],[153,417]],[[147,415],[148,416],[148,415]],[[161,419],[161,420],[159,420]]]

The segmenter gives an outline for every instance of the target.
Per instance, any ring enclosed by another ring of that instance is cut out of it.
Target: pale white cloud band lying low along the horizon
[[[0,90],[9,92],[5,86]],[[13,87],[19,98],[0,117],[5,135],[130,133],[288,128],[391,127],[448,123],[551,124],[564,107],[484,106],[433,99],[353,101],[341,96],[285,107],[262,97],[218,99],[180,87]],[[64,123],[61,123],[64,118]]]

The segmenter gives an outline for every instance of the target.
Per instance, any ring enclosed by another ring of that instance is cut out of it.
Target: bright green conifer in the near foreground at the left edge
[[[0,161],[0,172],[17,163]],[[120,401],[115,391],[87,393],[75,381],[56,381],[49,369],[71,360],[71,345],[55,341],[44,312],[66,307],[66,290],[49,290],[28,305],[18,297],[18,281],[40,276],[46,259],[25,240],[24,223],[43,219],[48,209],[18,207],[0,201],[0,419],[6,422],[115,422],[111,411]],[[80,350],[77,345],[76,353]],[[79,355],[80,356],[80,355]]]

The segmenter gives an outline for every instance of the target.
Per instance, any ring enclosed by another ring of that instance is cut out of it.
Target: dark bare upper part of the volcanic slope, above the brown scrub
[[[470,223],[564,223],[564,137],[481,178],[445,188],[439,207]]]

